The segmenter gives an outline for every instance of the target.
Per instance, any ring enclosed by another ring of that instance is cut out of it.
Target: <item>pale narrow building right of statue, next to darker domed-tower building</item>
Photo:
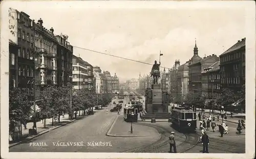
[[[180,65],[177,71],[177,89],[179,90],[183,99],[186,98],[186,95],[188,94],[188,63],[189,61]]]

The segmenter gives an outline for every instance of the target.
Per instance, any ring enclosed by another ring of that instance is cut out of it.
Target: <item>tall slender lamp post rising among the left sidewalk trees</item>
[[[34,78],[33,78],[33,110],[34,110],[34,118],[33,118],[33,131],[34,131],[34,134],[36,135],[37,134],[37,128],[36,128],[36,109],[35,109],[35,69],[36,69],[36,61],[37,61],[37,58],[35,58],[35,53],[33,54],[33,57],[30,57],[31,60],[33,60],[33,63],[34,63],[34,69],[33,69],[33,75],[34,75]]]

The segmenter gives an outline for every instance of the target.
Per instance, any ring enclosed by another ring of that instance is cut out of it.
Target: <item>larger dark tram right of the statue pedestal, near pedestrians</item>
[[[190,107],[175,107],[172,109],[172,123],[178,131],[195,131],[197,128],[197,113]]]

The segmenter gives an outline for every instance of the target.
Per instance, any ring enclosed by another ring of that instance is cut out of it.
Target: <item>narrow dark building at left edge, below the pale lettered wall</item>
[[[17,87],[18,79],[18,49],[19,46],[9,39],[9,89]]]

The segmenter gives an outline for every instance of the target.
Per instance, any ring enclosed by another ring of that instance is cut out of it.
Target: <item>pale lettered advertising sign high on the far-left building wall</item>
[[[9,8],[9,39],[17,44],[17,12],[15,9]]]

